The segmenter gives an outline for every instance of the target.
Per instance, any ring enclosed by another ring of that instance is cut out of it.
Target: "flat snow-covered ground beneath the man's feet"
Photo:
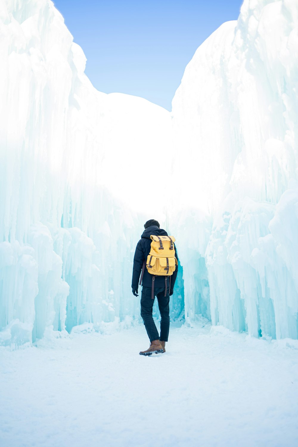
[[[76,333],[0,350],[1,447],[298,445],[298,342],[204,322]]]

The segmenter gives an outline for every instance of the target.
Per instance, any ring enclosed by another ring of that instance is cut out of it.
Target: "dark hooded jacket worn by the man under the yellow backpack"
[[[161,228],[158,228],[156,225],[152,225],[151,227],[146,228],[146,230],[143,232],[141,239],[139,240],[137,244],[137,248],[135,249],[134,253],[134,268],[132,272],[132,282],[131,287],[134,290],[138,290],[139,287],[139,279],[141,270],[143,267],[144,260],[147,261],[147,256],[151,249],[151,239],[150,235],[155,234],[157,236],[168,236],[168,233],[162,230]],[[175,256],[178,261],[176,246],[175,247]],[[174,289],[174,284],[176,281],[178,273],[178,266],[176,266],[176,270],[173,272],[171,276],[171,291]],[[152,285],[152,275],[148,273],[147,268],[145,267],[144,276],[142,280],[142,286],[145,287],[151,287]],[[164,276],[155,276],[155,287],[164,287]]]

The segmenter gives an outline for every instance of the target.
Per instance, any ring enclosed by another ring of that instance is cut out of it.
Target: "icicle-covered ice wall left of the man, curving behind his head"
[[[0,60],[0,344],[139,318],[138,171],[168,156],[170,114],[94,89],[49,0],[0,0]]]

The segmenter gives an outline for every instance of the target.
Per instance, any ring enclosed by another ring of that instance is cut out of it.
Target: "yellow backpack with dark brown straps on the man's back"
[[[155,275],[164,276],[165,291],[164,296],[167,295],[167,290],[171,290],[171,276],[176,270],[178,261],[175,257],[174,242],[175,237],[173,236],[155,236],[151,234],[151,249],[147,256],[147,262],[143,263],[143,271],[140,278],[140,283],[142,283],[143,274],[145,270],[145,265],[148,272],[152,275],[152,291],[151,298],[154,299],[154,281]],[[168,286],[168,276],[170,277]]]

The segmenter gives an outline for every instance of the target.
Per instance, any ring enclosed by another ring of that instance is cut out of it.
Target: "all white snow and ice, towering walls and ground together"
[[[297,1],[244,0],[172,113],[94,89],[50,0],[0,0],[0,60],[1,447],[298,445]],[[144,358],[151,218],[180,266]]]

